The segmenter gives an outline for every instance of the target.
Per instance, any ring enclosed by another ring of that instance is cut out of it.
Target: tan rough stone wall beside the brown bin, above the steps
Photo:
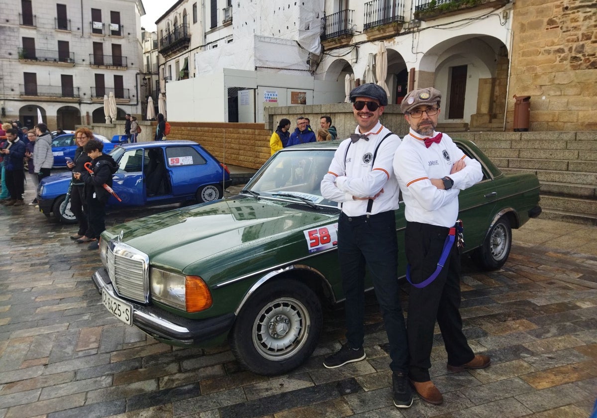
[[[510,97],[531,96],[531,131],[597,129],[597,8],[593,0],[517,0]],[[512,127],[514,100],[508,105]]]

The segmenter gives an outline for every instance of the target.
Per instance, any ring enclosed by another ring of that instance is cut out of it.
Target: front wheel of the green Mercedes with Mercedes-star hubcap
[[[230,348],[253,373],[287,373],[313,353],[321,324],[321,303],[307,285],[290,280],[268,282],[239,312]]]

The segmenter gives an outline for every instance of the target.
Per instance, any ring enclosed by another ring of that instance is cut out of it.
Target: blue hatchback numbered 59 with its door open
[[[220,199],[230,186],[230,173],[213,155],[193,141],[158,141],[122,144],[110,152],[118,164],[108,210],[120,207],[163,205]],[[70,172],[45,177],[39,183],[39,210],[63,223],[75,223],[70,200],[65,202]],[[63,214],[61,206],[65,205]]]

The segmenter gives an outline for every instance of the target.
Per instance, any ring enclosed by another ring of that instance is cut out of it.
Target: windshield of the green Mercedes
[[[260,198],[293,199],[337,207],[321,195],[321,180],[334,158],[333,149],[297,149],[278,152],[257,173],[247,190]]]

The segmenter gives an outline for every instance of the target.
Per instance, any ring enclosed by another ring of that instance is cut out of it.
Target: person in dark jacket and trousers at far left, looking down
[[[4,156],[4,167],[6,174],[6,185],[10,199],[5,206],[22,206],[23,193],[25,192],[25,173],[23,159],[25,156],[25,145],[19,139],[19,131],[15,128],[7,129],[7,143],[2,148]]]

